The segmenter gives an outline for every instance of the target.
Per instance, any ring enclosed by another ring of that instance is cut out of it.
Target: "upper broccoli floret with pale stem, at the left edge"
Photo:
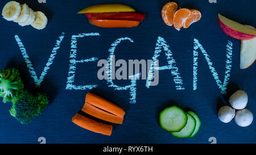
[[[4,103],[14,103],[19,100],[23,88],[24,85],[18,70],[10,68],[0,71],[0,97],[3,97]]]

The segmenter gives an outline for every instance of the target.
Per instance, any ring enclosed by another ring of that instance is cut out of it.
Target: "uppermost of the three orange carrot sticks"
[[[125,111],[121,107],[109,102],[108,100],[98,97],[92,93],[86,94],[85,104],[92,104],[94,107],[100,108],[101,110],[108,111],[110,114],[123,118]],[[83,107],[84,108],[84,107]]]

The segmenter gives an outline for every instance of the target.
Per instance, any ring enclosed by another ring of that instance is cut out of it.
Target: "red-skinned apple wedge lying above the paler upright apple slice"
[[[250,40],[256,37],[256,29],[234,22],[218,14],[218,25],[226,35],[239,40]]]

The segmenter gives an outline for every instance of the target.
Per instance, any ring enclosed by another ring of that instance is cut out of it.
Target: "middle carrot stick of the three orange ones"
[[[85,103],[84,107],[82,107],[82,111],[86,114],[92,115],[98,119],[105,120],[107,122],[122,124],[123,118],[110,114],[109,112],[103,111],[97,107],[92,106],[89,103]]]

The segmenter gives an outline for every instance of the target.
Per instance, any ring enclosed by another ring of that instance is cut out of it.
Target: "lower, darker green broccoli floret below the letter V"
[[[22,124],[28,124],[32,118],[42,114],[44,108],[47,107],[48,97],[44,93],[37,93],[35,97],[28,91],[21,94],[21,99],[13,103],[10,114]]]

